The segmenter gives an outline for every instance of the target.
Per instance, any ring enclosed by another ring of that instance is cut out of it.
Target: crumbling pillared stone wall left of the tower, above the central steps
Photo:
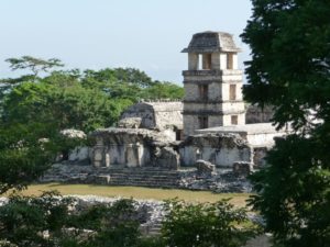
[[[103,128],[91,134],[95,167],[163,167],[176,169],[178,154],[164,134],[143,128]],[[167,160],[167,162],[164,161]]]

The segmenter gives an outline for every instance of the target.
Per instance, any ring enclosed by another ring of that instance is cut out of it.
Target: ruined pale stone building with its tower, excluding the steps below
[[[238,161],[263,164],[274,137],[285,133],[271,123],[245,124],[240,49],[232,35],[197,33],[183,52],[188,53],[184,101],[140,102],[123,112],[119,128],[95,132],[96,167],[194,167],[198,159],[218,168]],[[261,122],[260,109],[249,112],[250,123]]]

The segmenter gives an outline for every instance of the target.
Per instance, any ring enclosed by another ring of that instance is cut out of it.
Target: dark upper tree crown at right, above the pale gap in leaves
[[[252,2],[252,20],[242,34],[252,49],[245,99],[274,105],[279,126],[292,121],[295,130],[307,127],[310,110],[318,119],[329,117],[329,1]]]

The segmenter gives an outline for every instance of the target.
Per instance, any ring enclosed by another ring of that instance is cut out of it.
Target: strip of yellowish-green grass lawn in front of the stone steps
[[[101,197],[123,197],[135,199],[164,200],[179,198],[189,202],[215,202],[221,199],[231,198],[231,203],[244,206],[248,193],[212,193],[210,191],[189,191],[175,189],[152,189],[142,187],[111,187],[94,184],[61,184],[46,183],[33,184],[24,190],[22,194],[38,195],[42,191],[57,190],[62,194],[94,194]]]

